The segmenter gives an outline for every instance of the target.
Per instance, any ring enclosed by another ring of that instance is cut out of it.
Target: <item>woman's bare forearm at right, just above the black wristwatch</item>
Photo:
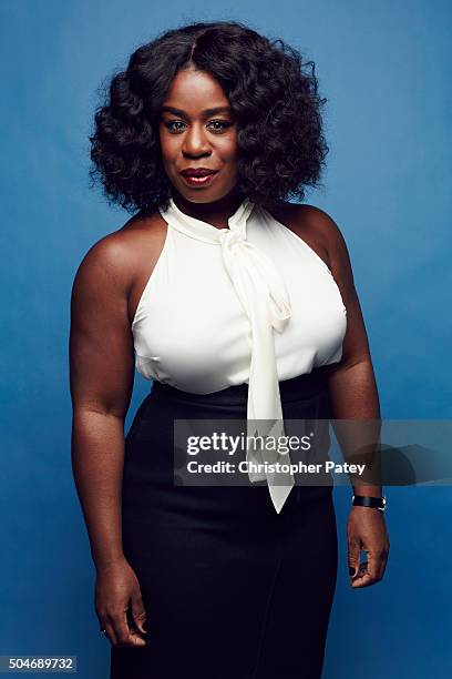
[[[350,423],[333,423],[333,429],[345,458],[353,458],[357,450],[376,447],[380,442],[380,403],[372,364],[361,361],[355,365],[338,366],[329,376],[332,417]],[[376,458],[374,458],[376,459]],[[353,483],[357,495],[380,497],[382,487],[379,475],[371,475],[370,483]]]

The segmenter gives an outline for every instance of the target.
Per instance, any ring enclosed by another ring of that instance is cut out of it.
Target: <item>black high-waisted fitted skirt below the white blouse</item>
[[[326,369],[280,382],[284,418],[329,418]],[[247,385],[154,382],[126,436],[123,548],[146,647],[111,647],[111,679],[319,679],[337,578],[330,486],[174,485],[173,420],[245,418]]]

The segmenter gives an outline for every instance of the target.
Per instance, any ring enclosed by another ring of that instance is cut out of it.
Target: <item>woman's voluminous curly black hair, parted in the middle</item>
[[[328,146],[314,61],[280,39],[237,21],[172,29],[136,49],[103,91],[90,136],[91,188],[101,181],[110,203],[127,212],[167,206],[158,121],[171,82],[183,69],[210,73],[237,120],[237,189],[271,206],[305,197],[319,183]]]

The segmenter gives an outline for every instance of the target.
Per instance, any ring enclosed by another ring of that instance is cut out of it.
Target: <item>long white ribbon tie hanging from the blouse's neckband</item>
[[[261,437],[261,445],[248,445],[247,463],[267,463],[265,472],[248,469],[251,483],[267,479],[276,511],[279,514],[295,485],[294,475],[268,465],[290,465],[288,454],[278,450],[278,437],[285,435],[273,331],[284,332],[291,317],[291,307],[284,281],[271,260],[246,240],[246,221],[254,203],[245,199],[228,220],[229,229],[217,229],[183,213],[170,200],[165,220],[192,237],[222,246],[223,261],[237,296],[251,326],[251,362],[248,381],[247,436]],[[276,446],[266,447],[267,437]],[[248,439],[249,440],[249,439]]]

